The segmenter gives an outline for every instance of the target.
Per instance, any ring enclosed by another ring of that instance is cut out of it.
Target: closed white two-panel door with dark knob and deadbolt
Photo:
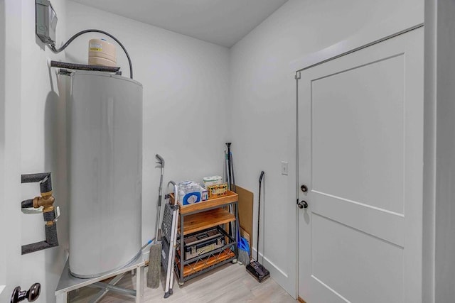
[[[422,302],[423,28],[301,72],[299,297]]]

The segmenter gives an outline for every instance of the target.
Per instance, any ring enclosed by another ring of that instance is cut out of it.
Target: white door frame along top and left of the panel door
[[[413,31],[417,28],[421,28],[424,26],[424,23],[422,22],[417,22],[414,23],[414,25],[409,26],[409,23],[407,23],[407,27],[403,27],[402,31],[396,31],[395,33],[387,33],[387,30],[390,28],[386,28],[384,31],[378,30],[376,36],[380,38],[377,38],[376,40],[365,40],[365,37],[371,37],[371,35],[366,35],[363,32],[360,32],[358,35],[355,35],[353,38],[348,39],[348,40],[343,40],[340,43],[336,43],[334,45],[331,45],[328,48],[324,48],[323,50],[319,50],[316,53],[312,53],[310,55],[306,55],[306,57],[303,57],[300,60],[296,60],[294,62],[291,62],[291,70],[294,74],[294,79],[295,79],[295,85],[296,85],[296,202],[299,202],[299,187],[300,187],[300,182],[299,182],[299,79],[301,79],[301,72],[304,70],[308,70],[311,67],[315,67],[317,65],[321,65],[325,62],[335,60],[338,57],[343,57],[344,55],[348,55],[350,53],[354,53],[358,50],[362,50],[363,48],[368,48],[371,45],[375,45],[378,43],[381,43],[382,41],[388,40],[390,38],[395,38],[398,35],[402,35],[404,33]],[[382,36],[381,36],[382,34]],[[426,39],[425,39],[426,40]],[[426,42],[425,42],[426,43]],[[428,102],[431,102],[429,100]],[[426,98],[424,99],[424,109],[427,109],[427,106],[431,106],[431,104],[427,104]],[[424,150],[432,150],[434,148],[434,141],[429,140],[427,137],[427,134],[432,134],[432,129],[434,128],[433,124],[434,121],[432,117],[429,117],[431,113],[427,114],[424,112]],[[427,121],[429,123],[427,123]],[[428,164],[429,167],[432,167],[433,162],[435,161],[433,155],[429,153],[429,155],[426,155],[424,153],[424,160],[426,162],[426,165]],[[425,170],[424,170],[424,183],[426,184],[427,182],[431,183],[431,180],[429,180],[429,177],[425,176]],[[422,184],[423,185],[423,184]],[[423,196],[422,197],[429,197],[429,194],[427,192],[433,192],[432,187],[424,187],[423,189]],[[431,194],[430,194],[431,195]],[[430,204],[434,204],[434,201],[428,201]],[[297,209],[297,208],[296,208]],[[431,221],[429,222],[431,223]],[[434,231],[434,225],[431,224],[424,224],[423,226],[423,234],[427,234],[428,232],[431,233]],[[297,219],[296,219],[296,238],[297,238],[297,243],[299,241],[299,216],[298,216],[298,209],[297,209]],[[424,241],[424,245],[427,245],[428,242]],[[434,246],[434,242],[431,243],[432,246]],[[300,302],[305,302],[304,299],[299,297],[299,244],[297,244],[296,247],[297,253],[297,272],[296,272],[296,297]],[[423,260],[422,260],[423,263]],[[422,276],[424,277],[425,275],[431,275],[433,276],[433,266],[427,266],[426,268],[423,268]],[[431,287],[422,287],[422,292],[424,294],[426,292],[432,293],[432,290],[429,290]],[[425,297],[425,296],[423,296]],[[311,302],[309,302],[311,303]]]

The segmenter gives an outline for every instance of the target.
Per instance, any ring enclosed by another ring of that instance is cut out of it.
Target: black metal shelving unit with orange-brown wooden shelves
[[[171,199],[173,200],[172,194]],[[196,204],[181,205],[178,202],[180,206],[180,225],[178,227],[179,239],[175,272],[177,273],[179,285],[183,285],[183,282],[197,277],[204,272],[208,272],[213,268],[237,260],[237,200],[238,194],[228,191],[226,196]],[[225,231],[225,226],[230,222],[235,222],[235,224],[231,224],[233,230],[228,234]],[[215,226],[220,226],[220,231],[225,237],[225,245],[208,253],[198,255],[195,258],[183,260],[184,258],[182,258],[181,252],[184,252],[184,243],[181,241],[181,238],[184,238],[190,233],[204,231]]]

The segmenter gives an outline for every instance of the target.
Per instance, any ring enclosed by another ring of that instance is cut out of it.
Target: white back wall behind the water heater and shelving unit
[[[68,1],[67,38],[97,28],[114,35],[132,58],[134,79],[144,86],[142,239],[154,236],[160,170],[169,180],[196,180],[223,174],[228,126],[229,50],[185,35]],[[87,62],[90,38],[77,38],[66,50],[69,62]],[[108,39],[109,40],[109,39]],[[117,62],[129,77],[126,57],[117,46]],[[121,224],[119,222],[119,224]]]

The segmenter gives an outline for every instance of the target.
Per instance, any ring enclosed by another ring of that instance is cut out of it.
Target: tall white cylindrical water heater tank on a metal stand
[[[141,253],[142,85],[74,72],[67,111],[70,272],[98,277]]]

